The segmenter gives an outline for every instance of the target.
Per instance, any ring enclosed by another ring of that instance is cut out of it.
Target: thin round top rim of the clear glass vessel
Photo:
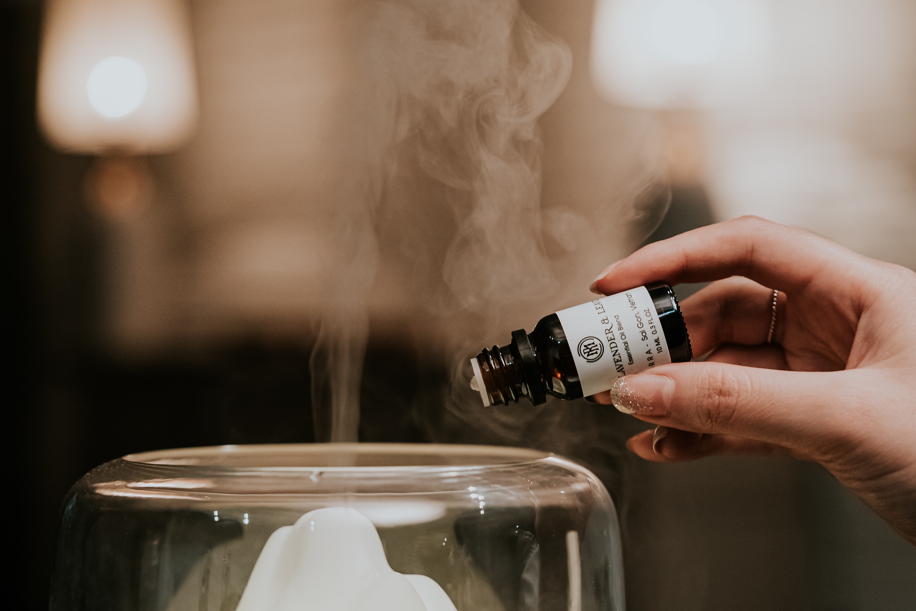
[[[316,471],[464,471],[505,468],[560,459],[553,453],[512,446],[462,443],[265,443],[213,445],[130,453],[121,460],[171,469],[223,473]],[[567,461],[560,459],[562,463]]]

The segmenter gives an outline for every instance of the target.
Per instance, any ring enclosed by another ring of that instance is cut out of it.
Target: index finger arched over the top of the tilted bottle
[[[791,291],[825,273],[852,276],[862,258],[818,235],[743,216],[643,246],[596,279],[593,288],[613,295],[655,280],[674,285],[743,276]]]

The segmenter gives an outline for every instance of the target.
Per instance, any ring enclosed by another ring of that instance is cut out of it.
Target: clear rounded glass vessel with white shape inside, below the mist
[[[50,608],[617,611],[620,535],[594,475],[532,450],[131,454],[67,497]]]

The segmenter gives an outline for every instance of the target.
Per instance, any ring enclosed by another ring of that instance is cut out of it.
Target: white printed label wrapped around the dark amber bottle
[[[573,351],[585,397],[614,386],[614,381],[649,367],[671,363],[646,287],[558,311]]]

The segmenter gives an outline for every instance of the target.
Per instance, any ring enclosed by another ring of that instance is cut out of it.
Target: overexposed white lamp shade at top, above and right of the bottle
[[[592,78],[616,104],[727,104],[761,80],[769,30],[761,0],[598,0]]]

